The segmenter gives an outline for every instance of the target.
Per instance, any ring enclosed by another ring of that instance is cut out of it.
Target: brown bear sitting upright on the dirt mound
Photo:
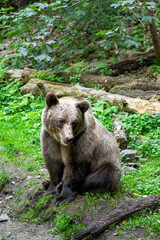
[[[116,140],[78,97],[46,96],[42,113],[42,155],[50,175],[49,193],[71,201],[82,192],[104,193],[120,187],[121,164]]]

